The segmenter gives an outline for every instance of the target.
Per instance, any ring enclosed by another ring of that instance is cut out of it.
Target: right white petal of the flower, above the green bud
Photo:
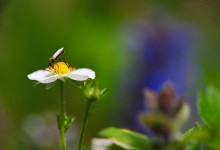
[[[89,78],[95,79],[95,72],[91,69],[81,68],[70,72],[67,76],[73,80],[84,81]]]

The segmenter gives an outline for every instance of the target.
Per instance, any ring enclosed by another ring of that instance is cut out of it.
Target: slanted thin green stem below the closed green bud
[[[85,114],[84,114],[84,118],[83,118],[83,122],[82,122],[81,132],[80,132],[78,150],[81,150],[81,147],[82,147],[82,142],[83,142],[83,138],[85,135],[85,130],[86,130],[88,120],[89,120],[89,112],[90,112],[91,104],[92,104],[91,100],[86,101],[86,108],[85,108]]]

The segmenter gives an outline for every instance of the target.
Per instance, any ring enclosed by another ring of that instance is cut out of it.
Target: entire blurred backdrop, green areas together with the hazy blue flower
[[[108,94],[95,105],[85,142],[117,126],[141,131],[142,90],[171,81],[196,115],[196,91],[220,85],[218,0],[1,0],[0,149],[58,149],[59,86],[33,86],[27,74],[44,69],[60,47],[76,68],[96,71]],[[83,93],[65,85],[67,134],[77,143]],[[190,124],[190,123],[188,123]]]

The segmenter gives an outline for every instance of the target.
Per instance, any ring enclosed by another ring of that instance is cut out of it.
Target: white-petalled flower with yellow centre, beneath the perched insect
[[[95,79],[95,72],[88,68],[75,69],[69,67],[65,62],[57,62],[53,67],[35,71],[27,76],[30,80],[47,84],[63,78],[70,78],[77,81]]]

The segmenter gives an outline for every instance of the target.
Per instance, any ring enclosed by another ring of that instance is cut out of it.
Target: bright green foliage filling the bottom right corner
[[[220,147],[220,90],[209,86],[205,92],[199,92],[198,111],[205,125],[196,123],[186,131],[180,140],[168,146],[167,150],[219,150]]]

